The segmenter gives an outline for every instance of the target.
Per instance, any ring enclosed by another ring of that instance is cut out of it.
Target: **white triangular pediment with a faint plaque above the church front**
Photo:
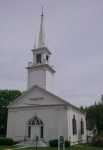
[[[56,95],[40,88],[39,86],[34,86],[18,99],[14,100],[10,105],[8,105],[8,108],[65,105],[66,103],[66,101],[56,97]]]

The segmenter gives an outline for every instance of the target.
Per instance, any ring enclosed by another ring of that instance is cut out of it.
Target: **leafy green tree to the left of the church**
[[[6,135],[7,108],[6,106],[22,93],[18,90],[0,90],[0,136]]]

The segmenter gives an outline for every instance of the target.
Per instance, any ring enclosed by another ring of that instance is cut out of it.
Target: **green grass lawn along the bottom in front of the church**
[[[6,150],[6,149],[15,149],[16,147],[14,146],[0,146],[0,150]],[[15,149],[16,150],[16,149]],[[20,148],[17,150],[36,150],[35,147],[28,147],[28,148]],[[37,150],[58,150],[57,148],[50,148],[50,147],[41,147],[41,148],[37,148]],[[91,147],[88,145],[75,145],[75,146],[71,146],[69,148],[66,148],[66,150],[103,150],[103,148],[96,148],[96,147]]]

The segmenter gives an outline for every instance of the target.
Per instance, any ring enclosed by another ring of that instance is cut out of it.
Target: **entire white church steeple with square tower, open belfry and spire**
[[[33,85],[38,85],[47,91],[54,91],[54,73],[55,70],[50,64],[51,52],[45,46],[44,34],[44,14],[42,7],[41,24],[39,32],[38,46],[36,46],[36,39],[33,49],[33,61],[28,63],[28,81],[27,89]]]

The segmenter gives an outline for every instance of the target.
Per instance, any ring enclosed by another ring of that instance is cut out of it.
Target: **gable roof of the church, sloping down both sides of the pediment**
[[[53,93],[51,93],[51,92],[49,92],[49,91],[47,91],[47,90],[41,88],[41,87],[38,86],[38,85],[32,86],[29,90],[27,90],[26,92],[24,92],[20,97],[18,97],[18,98],[15,99],[12,103],[10,103],[10,104],[7,106],[7,108],[11,108],[11,107],[13,106],[13,104],[15,104],[17,101],[19,101],[20,99],[22,99],[24,96],[26,96],[27,94],[29,94],[29,93],[30,93],[32,90],[34,90],[34,89],[39,89],[39,90],[43,91],[44,93],[47,93],[48,95],[50,95],[50,96],[52,96],[52,97],[58,99],[60,102],[63,102],[65,106],[69,106],[69,107],[71,107],[71,108],[73,108],[73,109],[76,109],[77,111],[79,111],[79,112],[85,114],[84,112],[80,111],[80,109],[77,108],[76,106],[70,104],[69,102],[65,101],[64,99],[58,97],[57,95],[55,95],[55,94],[53,94]],[[45,105],[45,106],[46,106],[46,105]],[[57,106],[57,105],[55,105],[55,106]],[[61,106],[62,106],[62,105],[61,105]]]

